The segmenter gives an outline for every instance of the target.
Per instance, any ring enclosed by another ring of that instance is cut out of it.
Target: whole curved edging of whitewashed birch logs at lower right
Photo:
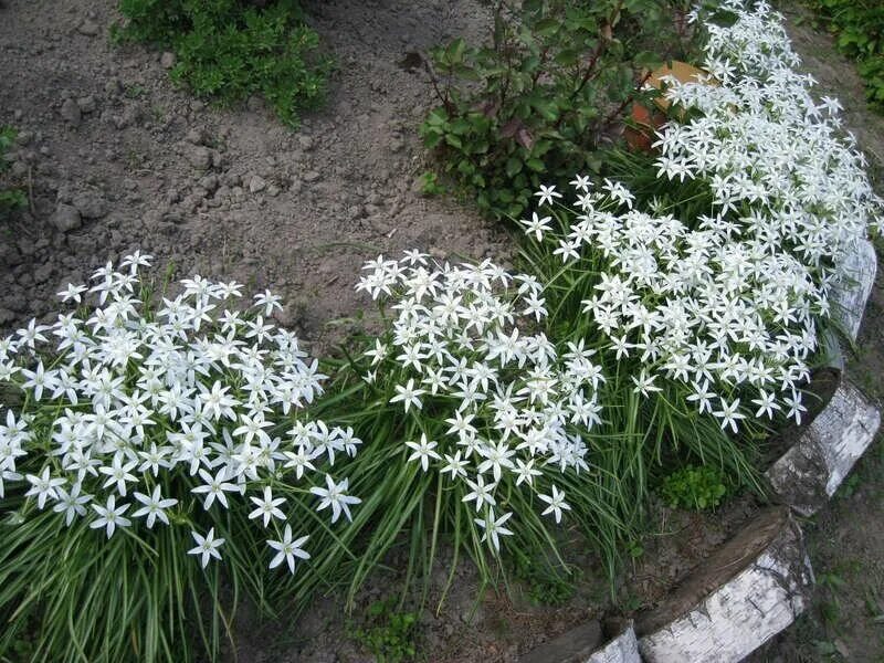
[[[832,316],[851,344],[877,269],[870,241],[855,249],[831,293]],[[827,345],[834,356],[825,379],[834,375],[835,388],[765,473],[781,506],[762,509],[682,580],[666,602],[640,614],[614,638],[599,642],[600,624],[581,624],[533,650],[523,663],[735,663],[804,611],[813,570],[792,513],[808,516],[824,506],[881,425],[877,404],[846,379],[838,344]],[[596,649],[587,646],[590,632]]]

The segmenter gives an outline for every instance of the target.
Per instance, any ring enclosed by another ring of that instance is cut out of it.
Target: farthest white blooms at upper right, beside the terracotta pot
[[[699,110],[671,123],[657,146],[660,173],[699,178],[714,197],[712,222],[768,253],[791,253],[821,292],[869,228],[884,229],[884,201],[874,193],[853,136],[841,126],[834,98],[818,103],[813,80],[796,71],[798,56],[769,6],[707,23],[707,71],[715,84],[673,81],[667,96]]]

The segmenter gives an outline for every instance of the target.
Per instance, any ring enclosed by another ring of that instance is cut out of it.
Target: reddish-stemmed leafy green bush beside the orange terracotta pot
[[[649,67],[684,56],[694,27],[682,0],[494,3],[490,44],[457,39],[433,54],[439,106],[421,127],[440,170],[493,217],[517,218],[541,183],[600,167],[596,148]]]

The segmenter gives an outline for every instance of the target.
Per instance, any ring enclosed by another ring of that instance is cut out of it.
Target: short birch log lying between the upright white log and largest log
[[[798,441],[767,471],[777,494],[803,516],[822,507],[875,436],[881,412],[842,380]]]

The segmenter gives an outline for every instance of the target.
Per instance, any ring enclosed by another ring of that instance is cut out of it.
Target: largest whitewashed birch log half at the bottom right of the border
[[[639,620],[641,655],[649,663],[740,661],[794,621],[812,583],[798,525],[788,509],[767,509]]]

